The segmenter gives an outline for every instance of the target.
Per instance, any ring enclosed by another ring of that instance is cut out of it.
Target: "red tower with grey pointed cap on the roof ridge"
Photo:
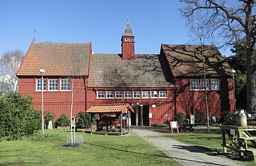
[[[132,27],[127,21],[124,32],[122,33],[122,60],[135,60],[134,53],[134,33]]]

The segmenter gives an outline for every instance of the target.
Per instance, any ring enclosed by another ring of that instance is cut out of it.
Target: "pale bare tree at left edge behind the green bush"
[[[23,58],[24,55],[20,50],[10,51],[0,58],[1,83],[6,85],[8,90],[18,90],[18,77],[16,77],[16,72],[18,72]]]

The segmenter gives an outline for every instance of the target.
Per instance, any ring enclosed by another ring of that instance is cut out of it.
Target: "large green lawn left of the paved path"
[[[83,136],[84,145],[65,147],[68,132],[46,130],[0,143],[0,165],[180,165],[136,135]]]

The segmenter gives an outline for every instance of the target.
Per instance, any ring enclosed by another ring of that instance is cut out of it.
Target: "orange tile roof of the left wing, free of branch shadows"
[[[17,76],[84,76],[88,74],[90,43],[32,42]]]

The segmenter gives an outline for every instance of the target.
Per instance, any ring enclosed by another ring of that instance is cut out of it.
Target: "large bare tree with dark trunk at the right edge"
[[[256,113],[256,62],[253,51],[256,38],[255,0],[179,0],[185,3],[181,13],[189,22],[196,11],[200,12],[202,25],[216,43],[223,46],[241,42],[246,48],[247,111]],[[221,42],[223,41],[223,42]]]

